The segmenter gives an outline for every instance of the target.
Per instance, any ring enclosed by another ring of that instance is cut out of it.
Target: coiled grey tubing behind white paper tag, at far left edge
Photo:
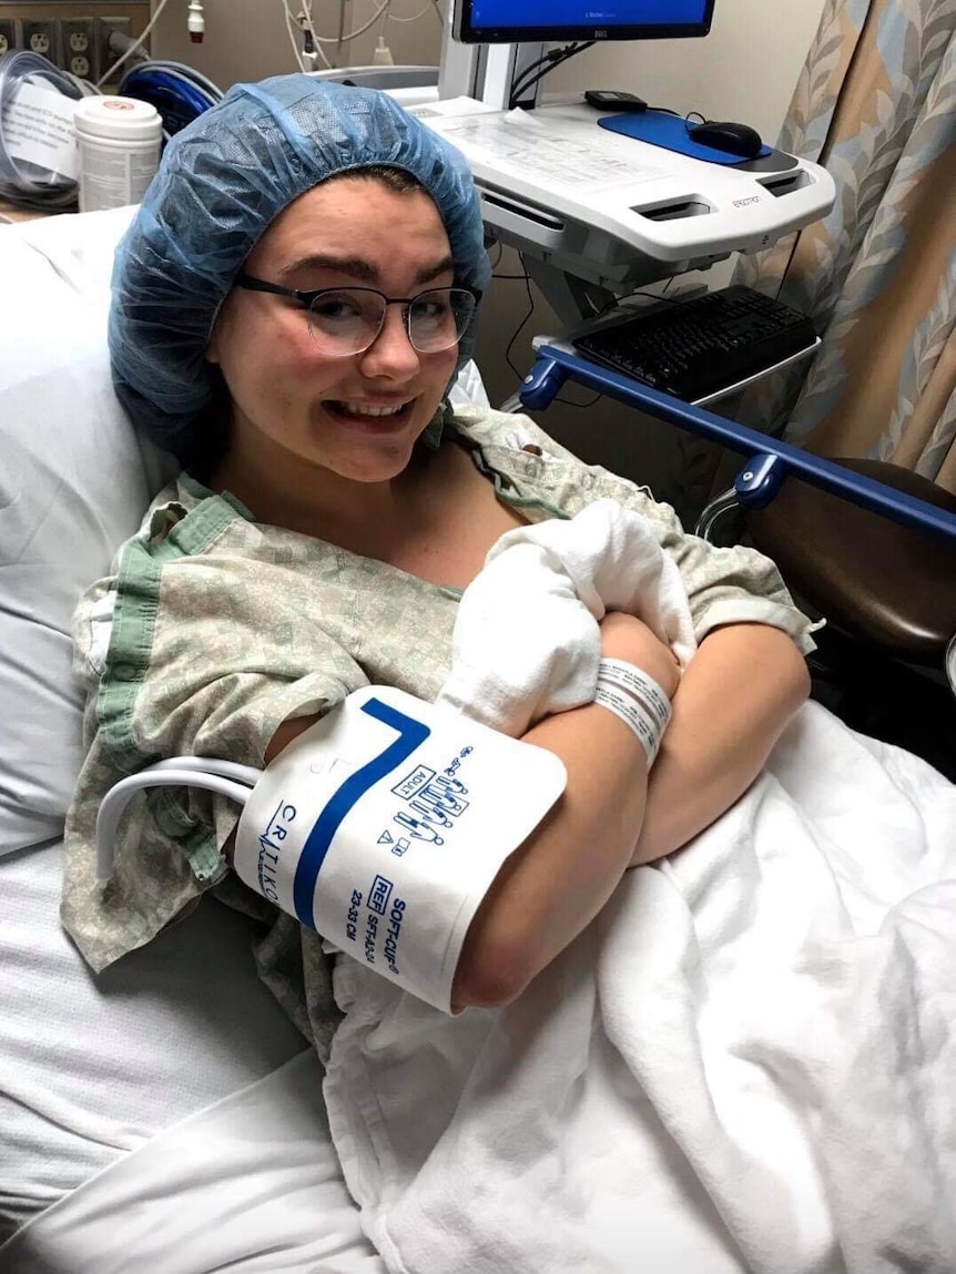
[[[14,159],[6,149],[3,115],[22,84],[50,85],[73,101],[91,96],[94,89],[54,66],[41,54],[18,50],[0,55],[0,196],[18,208],[36,211],[71,210],[76,206],[78,197],[73,177],[24,159]]]

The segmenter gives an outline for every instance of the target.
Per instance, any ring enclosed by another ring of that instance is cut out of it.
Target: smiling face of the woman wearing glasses
[[[390,297],[450,287],[449,238],[424,190],[396,191],[348,176],[316,186],[273,222],[243,270],[282,287],[371,287]],[[292,298],[233,288],[217,317],[206,358],[232,397],[232,429],[221,471],[242,496],[252,487],[386,483],[441,403],[458,347],[419,354],[403,307],[389,306],[361,354],[316,349],[308,315]],[[278,484],[278,485],[277,485]]]

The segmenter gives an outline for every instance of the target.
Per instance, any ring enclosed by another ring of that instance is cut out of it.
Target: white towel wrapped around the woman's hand
[[[590,703],[608,610],[637,615],[687,665],[696,641],[683,580],[640,513],[599,499],[507,531],[461,596],[438,702],[512,738]]]

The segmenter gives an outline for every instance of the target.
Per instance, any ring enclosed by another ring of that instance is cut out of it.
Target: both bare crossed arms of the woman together
[[[455,1008],[520,995],[590,924],[628,866],[683,845],[737,800],[807,694],[792,640],[760,624],[710,634],[679,687],[670,652],[630,615],[604,619],[602,651],[644,668],[673,694],[650,784],[640,741],[599,705],[528,731],[525,741],[562,759],[567,787],[483,898],[455,972]],[[268,758],[311,722],[283,726]]]

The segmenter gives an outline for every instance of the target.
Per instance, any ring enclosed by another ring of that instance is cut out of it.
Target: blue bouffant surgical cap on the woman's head
[[[491,269],[464,157],[393,98],[308,75],[237,84],[170,141],[116,254],[110,355],[116,392],[161,447],[192,450],[214,396],[204,353],[242,264],[275,217],[335,173],[412,173],[441,215],[455,282]],[[459,349],[470,358],[474,335]]]

